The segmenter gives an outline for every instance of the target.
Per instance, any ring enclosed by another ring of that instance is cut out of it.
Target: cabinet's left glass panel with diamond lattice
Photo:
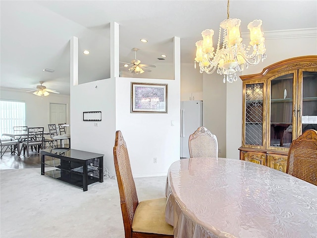
[[[263,146],[264,83],[246,85],[245,144]]]

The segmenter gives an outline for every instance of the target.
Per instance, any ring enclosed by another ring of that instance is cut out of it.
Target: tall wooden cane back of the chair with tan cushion
[[[115,132],[113,147],[115,174],[117,177],[121,212],[126,238],[132,237],[132,221],[139,204],[137,190],[132,176],[129,154],[121,131]]]

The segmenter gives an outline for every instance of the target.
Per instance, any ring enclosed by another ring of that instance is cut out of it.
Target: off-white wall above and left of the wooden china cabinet
[[[250,66],[243,74],[262,72],[263,68],[298,56],[317,55],[317,29],[265,32],[267,59]],[[247,43],[247,42],[246,42]],[[227,158],[239,159],[242,145],[242,80],[227,85]]]

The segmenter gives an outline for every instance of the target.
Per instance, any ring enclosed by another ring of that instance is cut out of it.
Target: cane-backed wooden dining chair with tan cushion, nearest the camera
[[[115,132],[113,159],[125,238],[173,237],[173,227],[165,222],[166,198],[139,202],[127,146],[119,130]]]

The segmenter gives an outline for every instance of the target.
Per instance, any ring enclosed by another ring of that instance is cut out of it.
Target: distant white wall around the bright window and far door
[[[31,92],[22,92],[9,88],[0,88],[0,98],[25,102],[25,123],[27,126],[43,126],[48,131],[50,123],[50,103],[66,104],[66,123],[70,121],[70,96],[51,93],[47,97],[39,97]]]

